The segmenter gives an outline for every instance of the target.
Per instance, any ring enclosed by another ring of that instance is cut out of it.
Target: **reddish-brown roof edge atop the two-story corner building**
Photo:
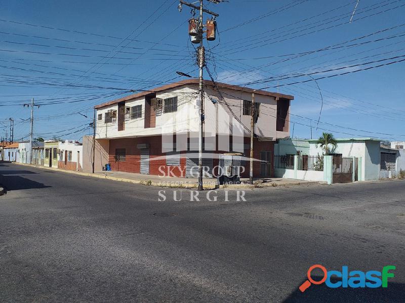
[[[138,92],[138,93],[135,93],[135,94],[131,94],[129,96],[122,97],[122,98],[119,98],[119,99],[116,99],[116,100],[112,100],[110,102],[106,102],[106,103],[103,103],[103,104],[100,104],[100,105],[96,105],[94,108],[99,109],[99,108],[103,108],[103,107],[106,107],[106,106],[109,106],[109,105],[117,104],[119,102],[139,98],[139,97],[148,95],[148,94],[153,93],[153,92],[160,92],[160,91],[164,91],[164,90],[168,90],[168,89],[172,89],[172,88],[176,88],[176,87],[181,87],[181,86],[184,86],[184,85],[198,84],[198,83],[199,82],[198,82],[197,78],[182,80],[182,81],[170,83],[170,84],[167,84],[167,85],[159,86],[159,87],[156,87],[156,88],[152,88],[152,89],[147,90],[147,91],[141,91],[141,92]],[[272,96],[272,97],[278,97],[278,98],[282,98],[282,99],[294,100],[294,96],[287,95],[287,94],[282,94],[282,93],[278,93],[278,92],[270,92],[270,91],[266,91],[266,90],[253,89],[253,88],[249,88],[249,87],[242,87],[242,86],[238,86],[238,85],[232,85],[232,84],[226,84],[226,83],[220,83],[220,82],[215,82],[215,84],[219,88],[228,88],[228,89],[233,89],[233,90],[237,90],[237,91],[251,92],[251,93],[255,92],[256,94],[261,94],[261,95],[265,95],[265,96]],[[206,86],[214,86],[214,82],[209,81],[209,80],[204,80],[204,85],[206,85]]]

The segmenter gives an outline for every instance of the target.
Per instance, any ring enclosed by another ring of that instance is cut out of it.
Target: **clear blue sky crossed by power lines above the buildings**
[[[294,95],[291,136],[405,140],[405,1],[229,0],[215,41],[215,81]],[[0,0],[0,137],[80,140],[93,107],[130,90],[198,76],[178,1]],[[350,18],[353,15],[352,21]],[[204,20],[208,18],[206,14]],[[205,79],[210,79],[204,71]],[[319,121],[319,122],[318,122]]]

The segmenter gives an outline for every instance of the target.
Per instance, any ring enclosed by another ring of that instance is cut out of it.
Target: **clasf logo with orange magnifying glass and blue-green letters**
[[[315,281],[311,277],[311,272],[315,268],[320,269],[323,272],[323,277],[319,281]],[[362,272],[359,270],[353,270],[349,272],[347,266],[342,266],[342,271],[331,270],[327,271],[325,267],[319,264],[312,265],[307,272],[308,280],[306,280],[302,285],[299,287],[301,292],[304,292],[311,284],[319,285],[325,283],[326,286],[330,288],[338,288],[338,287],[369,287],[369,288],[377,288],[377,287],[388,287],[388,278],[393,278],[394,274],[390,273],[390,270],[395,270],[395,266],[388,265],[384,266],[382,271],[370,270],[368,272]],[[333,282],[331,281],[331,277],[341,278],[340,281]]]

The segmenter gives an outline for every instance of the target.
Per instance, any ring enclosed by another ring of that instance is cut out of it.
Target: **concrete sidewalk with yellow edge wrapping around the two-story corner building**
[[[84,176],[90,176],[95,178],[110,179],[115,181],[130,182],[135,184],[144,184],[151,186],[162,187],[175,187],[175,188],[196,188],[198,185],[198,178],[178,178],[178,177],[164,177],[156,175],[145,175],[137,173],[117,172],[117,171],[98,171],[94,174],[91,172],[77,172],[59,168],[50,168],[45,166],[36,166],[24,163],[13,163],[23,166],[32,166],[41,169],[56,170],[60,172],[78,174]],[[284,178],[255,178],[254,184],[249,184],[248,178],[242,178],[240,184],[225,184],[217,185],[217,179],[204,179],[203,186],[205,189],[214,188],[261,188],[269,186],[290,186],[290,185],[309,185],[320,184],[320,182],[303,181],[296,179],[284,179]]]

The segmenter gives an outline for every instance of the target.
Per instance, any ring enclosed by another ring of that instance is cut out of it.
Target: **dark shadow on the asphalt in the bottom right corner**
[[[313,277],[314,280],[319,281],[322,277]],[[332,282],[341,281],[339,279],[331,278]],[[302,280],[301,284],[305,282]],[[300,284],[300,285],[301,285]],[[403,303],[405,283],[395,283],[388,281],[387,288],[329,288],[324,284],[311,285],[304,292],[301,292],[297,285],[297,290],[291,293],[283,303],[317,303],[317,302],[386,302],[386,303]]]

